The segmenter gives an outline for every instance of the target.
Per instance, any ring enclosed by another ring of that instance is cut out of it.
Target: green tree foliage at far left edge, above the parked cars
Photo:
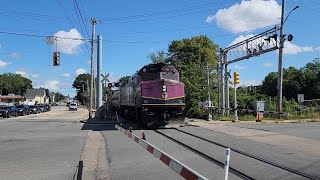
[[[1,90],[3,95],[24,95],[27,89],[32,88],[32,81],[20,74],[5,73],[0,75]]]

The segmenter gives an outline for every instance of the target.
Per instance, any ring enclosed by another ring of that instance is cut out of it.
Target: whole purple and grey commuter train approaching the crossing
[[[185,117],[184,83],[174,66],[148,64],[119,85],[111,107],[148,128],[180,123]]]

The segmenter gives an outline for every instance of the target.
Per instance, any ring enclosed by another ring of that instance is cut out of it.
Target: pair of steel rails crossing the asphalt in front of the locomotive
[[[262,162],[262,163],[271,165],[271,166],[273,166],[273,167],[277,167],[277,168],[279,168],[279,169],[281,169],[281,170],[284,170],[284,171],[293,173],[293,174],[295,174],[295,175],[299,175],[299,176],[301,176],[301,177],[308,178],[308,179],[311,179],[311,180],[317,180],[317,179],[318,179],[318,178],[315,178],[315,177],[313,177],[313,176],[310,176],[310,175],[308,175],[308,174],[306,174],[306,173],[304,173],[304,172],[301,172],[301,171],[298,171],[298,170],[295,170],[295,169],[292,169],[292,168],[289,168],[289,167],[286,167],[286,166],[277,164],[277,163],[275,163],[275,162],[272,162],[272,161],[263,159],[263,158],[261,158],[261,157],[254,156],[254,155],[252,155],[252,154],[248,154],[248,153],[243,152],[243,151],[240,151],[240,150],[238,150],[238,149],[235,149],[235,148],[232,148],[232,147],[228,147],[228,146],[223,145],[223,144],[221,144],[221,143],[218,143],[218,142],[215,142],[215,141],[212,141],[212,140],[203,138],[203,137],[201,137],[201,136],[198,136],[198,135],[195,135],[195,134],[192,134],[192,133],[183,131],[183,130],[181,130],[181,129],[178,129],[178,128],[168,128],[168,129],[178,131],[178,132],[180,132],[180,133],[183,133],[183,134],[192,136],[192,137],[194,137],[194,138],[203,140],[203,141],[205,141],[205,142],[208,142],[208,143],[210,143],[210,144],[214,144],[214,145],[216,145],[216,146],[220,146],[220,147],[222,147],[222,148],[230,148],[233,152],[236,152],[236,153],[241,154],[241,155],[243,155],[243,156],[246,156],[246,157],[252,158],[252,159],[254,159],[254,160],[260,161],[260,162]],[[193,148],[193,147],[191,147],[191,146],[189,146],[189,145],[187,145],[187,144],[185,144],[185,143],[183,143],[183,142],[181,142],[181,141],[179,141],[179,140],[177,140],[177,139],[174,139],[174,138],[170,137],[169,135],[167,135],[167,134],[165,134],[165,133],[163,133],[163,132],[161,132],[161,131],[159,131],[159,130],[154,130],[154,131],[155,131],[156,133],[158,133],[158,134],[166,137],[167,139],[170,139],[171,141],[173,141],[173,142],[175,142],[175,143],[177,143],[177,144],[179,144],[179,145],[181,145],[181,146],[183,146],[183,147],[191,150],[192,152],[194,152],[194,153],[198,154],[199,156],[207,159],[208,161],[213,162],[213,163],[221,166],[222,168],[224,167],[224,163],[223,163],[223,162],[220,162],[219,160],[214,159],[214,158],[212,158],[212,157],[204,154],[203,152],[200,152],[199,150],[197,150],[197,149],[195,149],[195,148]],[[232,174],[234,174],[234,175],[236,175],[236,176],[238,176],[238,177],[240,177],[240,178],[242,178],[242,179],[255,179],[255,178],[250,177],[249,175],[247,175],[247,174],[245,174],[245,173],[240,172],[239,170],[236,170],[234,167],[231,167],[231,166],[230,166],[230,173],[232,173]]]

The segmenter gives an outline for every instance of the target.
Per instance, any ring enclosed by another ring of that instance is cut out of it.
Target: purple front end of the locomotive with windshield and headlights
[[[143,67],[141,77],[142,121],[158,127],[177,119],[184,120],[184,84],[174,66],[150,64]]]

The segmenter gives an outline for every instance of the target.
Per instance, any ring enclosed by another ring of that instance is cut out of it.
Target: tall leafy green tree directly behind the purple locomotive
[[[207,100],[206,66],[216,67],[219,59],[218,50],[218,45],[207,36],[175,40],[169,45],[167,62],[178,69],[180,79],[185,84],[185,102],[188,116],[204,116],[205,111],[198,108],[198,102]],[[212,80],[216,79],[216,75],[210,73],[210,79],[212,83]],[[212,86],[216,85],[212,83],[210,87]],[[216,90],[209,88],[209,91],[211,97],[217,98]],[[217,100],[213,102],[217,102]]]

